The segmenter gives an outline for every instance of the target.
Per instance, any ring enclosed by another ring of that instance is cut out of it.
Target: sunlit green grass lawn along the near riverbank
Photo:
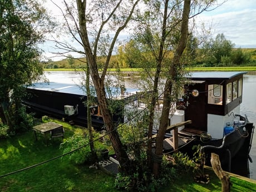
[[[64,122],[65,137],[82,131],[79,127]],[[60,140],[49,141],[45,145],[42,136],[35,141],[33,131],[0,139],[0,176],[32,166],[62,154]],[[212,171],[210,184],[197,184],[193,175],[181,174],[167,186],[159,189],[167,191],[221,191],[221,184]],[[31,169],[0,178],[0,191],[120,191],[114,188],[114,177],[101,170],[89,169],[88,165],[75,165],[67,157],[58,158]],[[232,191],[255,191],[256,184],[232,178]]]

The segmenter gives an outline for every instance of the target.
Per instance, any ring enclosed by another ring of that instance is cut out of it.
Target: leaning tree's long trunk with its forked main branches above
[[[104,123],[106,126],[107,131],[110,132],[110,140],[112,142],[112,146],[114,147],[114,150],[116,152],[117,158],[120,161],[121,169],[124,172],[128,172],[129,169],[126,168],[126,164],[128,161],[128,156],[126,154],[125,148],[122,145],[119,135],[117,134],[117,131],[115,130],[113,121],[112,121],[112,114],[109,109],[108,105],[108,99],[106,97],[105,92],[105,85],[104,80],[107,72],[107,68],[109,66],[110,58],[112,55],[112,51],[114,49],[115,43],[117,41],[117,37],[119,36],[120,32],[126,27],[127,23],[132,17],[132,13],[134,12],[136,4],[139,2],[139,0],[135,1],[135,3],[132,3],[131,9],[128,9],[129,11],[126,12],[124,9],[124,5],[122,5],[122,0],[117,2],[108,2],[108,1],[102,1],[99,3],[99,9],[98,13],[100,17],[97,17],[100,21],[100,27],[97,28],[96,38],[93,43],[93,46],[91,47],[91,43],[89,41],[89,34],[88,34],[88,27],[87,24],[90,25],[90,20],[88,17],[91,17],[92,15],[89,15],[90,11],[87,9],[87,2],[77,0],[77,11],[78,11],[78,20],[79,20],[79,35],[82,40],[82,45],[85,50],[86,59],[88,62],[88,66],[90,68],[90,75],[92,77],[93,85],[95,86],[95,90],[97,93],[97,98],[100,104],[102,117],[104,119]],[[126,4],[126,6],[129,6]],[[96,7],[95,7],[96,8]],[[96,16],[96,15],[95,15]],[[91,17],[92,18],[92,17]],[[102,35],[104,36],[104,27],[106,24],[109,24],[108,22],[113,21],[112,26],[116,28],[115,35],[112,38],[112,42],[110,43],[109,50],[106,51],[106,62],[104,63],[102,74],[99,74],[98,66],[97,66],[97,52],[100,49],[100,40],[102,38]],[[99,22],[97,21],[97,22]]]

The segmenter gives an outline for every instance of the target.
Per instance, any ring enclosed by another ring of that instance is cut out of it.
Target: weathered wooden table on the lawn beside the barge
[[[40,132],[45,136],[45,142],[47,144],[47,134],[50,133],[52,130],[61,128],[62,125],[57,124],[56,122],[45,122],[40,125],[33,126],[33,131],[35,133],[35,139],[37,140],[37,132]]]

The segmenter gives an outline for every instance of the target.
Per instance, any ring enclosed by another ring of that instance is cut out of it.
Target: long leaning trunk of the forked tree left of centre
[[[96,61],[96,53],[97,50],[94,50],[95,55],[91,49],[90,41],[88,38],[87,33],[87,18],[86,18],[86,1],[77,0],[77,9],[78,9],[78,18],[79,18],[79,26],[80,26],[80,37],[82,40],[83,48],[86,53],[86,61],[90,68],[90,75],[93,81],[93,85],[95,86],[95,90],[97,93],[97,100],[100,105],[101,114],[106,126],[106,130],[109,133],[109,137],[111,140],[111,144],[116,152],[117,159],[119,160],[121,171],[123,173],[128,173],[129,168],[127,168],[127,161],[129,161],[128,155],[126,154],[125,147],[122,145],[120,137],[115,130],[115,127],[112,123],[112,114],[108,109],[106,91],[104,86],[104,78],[105,76],[102,75],[102,78],[99,75],[98,68],[97,68],[97,61]],[[121,28],[120,28],[121,30]],[[120,31],[119,31],[120,32]],[[97,44],[98,42],[96,42]],[[114,45],[113,45],[114,46]],[[94,47],[96,49],[96,47]],[[111,53],[111,52],[110,52]],[[107,68],[108,63],[106,63],[105,68]]]

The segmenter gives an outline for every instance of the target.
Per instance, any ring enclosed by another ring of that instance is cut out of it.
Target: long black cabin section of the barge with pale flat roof
[[[120,101],[120,107],[116,109],[112,120],[116,123],[124,122],[122,104],[131,99],[136,90],[132,88],[126,89],[125,92],[117,88],[110,90],[111,99]],[[26,87],[26,91],[27,96],[23,98],[22,104],[26,106],[27,111],[34,112],[38,117],[48,115],[87,127],[85,87],[68,83],[37,82]],[[95,102],[90,106],[92,126],[96,130],[101,130],[104,121],[96,96],[93,96],[93,101]]]

